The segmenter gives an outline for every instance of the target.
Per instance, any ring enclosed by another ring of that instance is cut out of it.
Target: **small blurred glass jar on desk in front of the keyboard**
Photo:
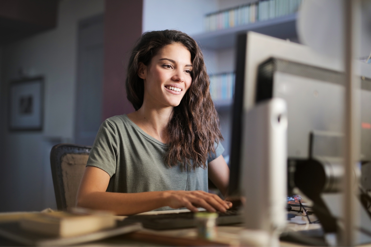
[[[198,212],[194,214],[197,221],[198,237],[206,240],[216,238],[216,219],[217,213]]]

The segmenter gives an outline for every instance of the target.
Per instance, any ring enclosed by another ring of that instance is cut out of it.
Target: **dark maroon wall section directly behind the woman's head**
[[[142,34],[143,13],[142,0],[106,0],[105,4],[102,120],[134,111],[125,79],[130,52]]]

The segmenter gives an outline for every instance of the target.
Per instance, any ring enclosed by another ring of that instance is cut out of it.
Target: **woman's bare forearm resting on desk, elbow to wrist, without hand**
[[[76,206],[131,215],[167,206],[166,191],[142,193],[90,192],[78,197]]]

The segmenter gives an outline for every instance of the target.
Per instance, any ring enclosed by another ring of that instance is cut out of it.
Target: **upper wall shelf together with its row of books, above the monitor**
[[[193,38],[201,48],[233,47],[236,34],[242,31],[286,39],[296,37],[296,12],[303,0],[263,0],[233,9],[207,14],[205,32]]]

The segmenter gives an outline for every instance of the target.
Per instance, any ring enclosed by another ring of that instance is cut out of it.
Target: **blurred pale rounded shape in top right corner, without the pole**
[[[371,53],[371,1],[361,0],[361,14],[355,25],[360,27],[359,54],[367,59]],[[304,1],[298,14],[297,32],[301,43],[321,54],[343,59],[344,8],[339,0]]]

